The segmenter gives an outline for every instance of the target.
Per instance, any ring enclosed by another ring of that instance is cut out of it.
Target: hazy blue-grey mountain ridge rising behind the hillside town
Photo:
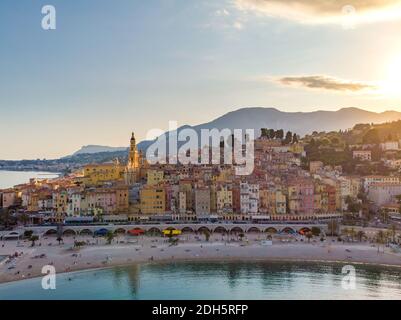
[[[313,131],[338,131],[350,129],[359,123],[384,123],[401,119],[401,113],[385,111],[381,113],[358,108],[343,108],[337,111],[283,112],[275,108],[242,108],[229,112],[211,122],[193,128],[198,134],[201,129],[254,129],[255,135],[261,128],[283,129],[304,136]],[[153,141],[142,141],[138,149],[146,150]]]

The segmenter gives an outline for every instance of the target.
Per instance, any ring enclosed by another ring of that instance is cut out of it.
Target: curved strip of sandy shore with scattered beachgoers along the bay
[[[25,247],[24,250],[14,248],[16,252],[23,253],[15,259],[15,267],[11,270],[8,270],[9,264],[4,261],[0,263],[0,284],[43,276],[41,269],[48,264],[54,265],[57,274],[171,262],[283,262],[401,267],[401,254],[392,253],[388,248],[384,253],[377,253],[377,248],[368,244],[275,243],[272,246],[261,246],[253,243],[243,246],[239,243],[187,242],[170,247],[166,243],[157,246],[150,243],[147,241],[142,246],[100,244],[80,250],[68,249],[69,244]],[[0,248],[0,255],[4,255],[4,251],[4,248]],[[40,254],[46,254],[46,258],[34,258]]]

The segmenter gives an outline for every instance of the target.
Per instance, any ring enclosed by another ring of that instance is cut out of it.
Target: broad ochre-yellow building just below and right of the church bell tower
[[[147,186],[140,191],[142,214],[163,214],[166,211],[164,188]]]

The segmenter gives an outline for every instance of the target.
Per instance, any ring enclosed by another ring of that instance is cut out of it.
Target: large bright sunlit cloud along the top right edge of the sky
[[[401,18],[401,0],[233,0],[237,9],[303,23],[366,23]]]

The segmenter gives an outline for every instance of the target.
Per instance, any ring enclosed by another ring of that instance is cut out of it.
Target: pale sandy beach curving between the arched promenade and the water
[[[333,239],[283,242],[274,240],[273,245],[261,244],[265,239],[250,235],[239,241],[213,235],[209,242],[203,236],[182,235],[178,245],[171,246],[163,237],[119,236],[111,244],[103,238],[66,237],[64,243],[55,237],[42,238],[34,247],[28,240],[0,242],[0,256],[15,256],[0,259],[0,283],[42,276],[42,267],[53,265],[57,273],[86,269],[106,268],[143,262],[165,261],[325,261],[366,263],[375,265],[401,266],[401,253],[374,244],[339,243]],[[74,249],[74,241],[88,244]]]

